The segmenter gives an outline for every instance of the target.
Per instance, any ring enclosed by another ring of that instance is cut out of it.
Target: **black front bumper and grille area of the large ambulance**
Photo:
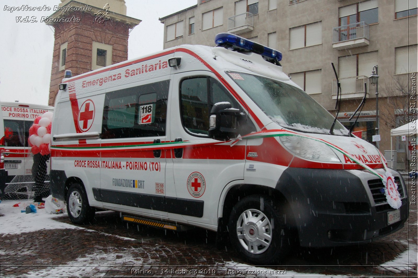
[[[380,179],[365,171],[288,168],[276,189],[289,202],[301,246],[358,244],[389,235],[408,219],[405,183],[398,173],[393,175],[398,180],[402,206],[400,220],[390,225],[388,212],[395,209],[382,200]]]

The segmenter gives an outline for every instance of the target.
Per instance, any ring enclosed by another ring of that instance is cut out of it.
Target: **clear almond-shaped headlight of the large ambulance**
[[[299,136],[280,136],[283,145],[297,156],[324,162],[340,162],[338,156],[325,143]]]

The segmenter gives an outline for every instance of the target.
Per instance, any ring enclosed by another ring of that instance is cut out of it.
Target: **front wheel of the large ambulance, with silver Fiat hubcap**
[[[268,196],[252,195],[235,204],[228,230],[232,245],[250,263],[278,263],[291,249],[291,230],[277,202]]]

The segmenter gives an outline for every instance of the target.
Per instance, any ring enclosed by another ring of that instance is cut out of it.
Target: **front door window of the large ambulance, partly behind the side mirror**
[[[240,109],[238,102],[212,77],[192,77],[180,84],[181,120],[187,132],[207,137],[209,116],[217,102],[229,102]]]

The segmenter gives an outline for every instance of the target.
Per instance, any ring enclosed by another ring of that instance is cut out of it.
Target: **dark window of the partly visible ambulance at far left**
[[[33,121],[4,120],[4,139],[6,147],[27,147],[29,128]]]

